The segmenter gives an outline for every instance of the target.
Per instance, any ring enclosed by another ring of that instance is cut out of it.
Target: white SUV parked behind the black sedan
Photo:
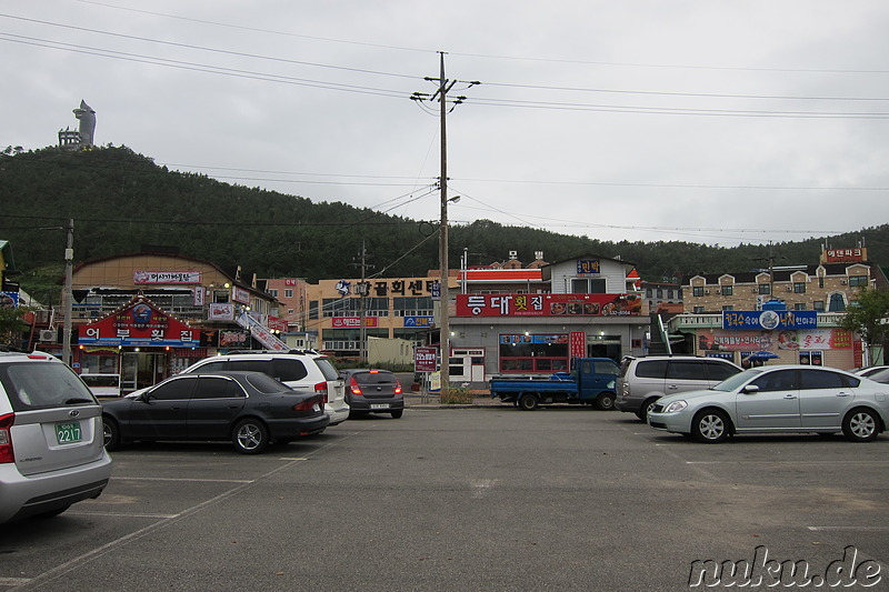
[[[243,351],[206,358],[183,370],[183,373],[214,373],[220,371],[262,372],[298,391],[310,390],[324,395],[324,411],[329,425],[349,418],[346,388],[337,369],[318,352],[290,350],[289,352]]]

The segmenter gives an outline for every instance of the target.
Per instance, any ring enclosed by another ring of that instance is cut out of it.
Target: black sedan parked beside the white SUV
[[[330,422],[324,401],[262,372],[179,374],[136,397],[102,402],[104,443],[230,440],[258,454],[269,443],[320,433]]]

